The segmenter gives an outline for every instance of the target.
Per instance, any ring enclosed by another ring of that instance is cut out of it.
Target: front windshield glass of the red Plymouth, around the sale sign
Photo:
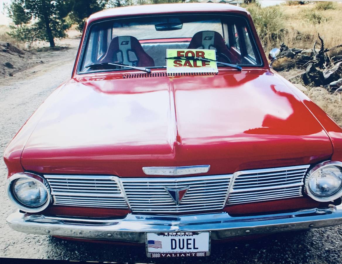
[[[90,27],[86,43],[80,72],[108,71],[89,67],[101,63],[165,67],[167,49],[214,49],[217,61],[262,65],[247,20],[233,15],[187,14],[104,21]]]

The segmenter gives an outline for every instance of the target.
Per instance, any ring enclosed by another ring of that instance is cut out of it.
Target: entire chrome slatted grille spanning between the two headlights
[[[50,184],[56,205],[130,208],[133,212],[172,213],[219,210],[225,204],[300,197],[308,167],[309,165],[254,169],[229,175],[178,178],[119,178],[94,175],[44,177]],[[187,186],[189,189],[177,206],[165,187]]]

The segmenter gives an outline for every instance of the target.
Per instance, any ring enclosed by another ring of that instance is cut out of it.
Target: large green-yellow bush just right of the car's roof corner
[[[264,47],[274,47],[284,37],[283,13],[279,7],[248,7]]]

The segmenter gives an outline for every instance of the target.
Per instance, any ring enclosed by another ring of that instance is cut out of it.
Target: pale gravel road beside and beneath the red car
[[[39,65],[0,85],[0,186],[4,186],[6,167],[4,148],[40,103],[64,80],[73,67],[76,48],[56,51],[55,59]],[[116,246],[64,241],[42,235],[14,231],[5,218],[15,207],[0,188],[1,257],[37,259],[152,262],[152,263],[341,263],[342,226],[304,232],[277,234],[264,238],[213,243],[211,256],[203,259],[147,259],[144,246]]]

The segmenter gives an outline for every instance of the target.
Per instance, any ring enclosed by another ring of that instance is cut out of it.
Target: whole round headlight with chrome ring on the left
[[[10,200],[25,212],[39,212],[50,203],[50,188],[47,181],[32,173],[16,173],[6,184]]]

